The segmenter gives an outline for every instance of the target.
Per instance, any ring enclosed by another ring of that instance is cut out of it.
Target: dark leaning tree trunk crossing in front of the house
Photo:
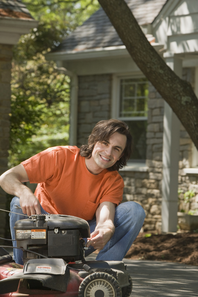
[[[198,100],[148,42],[124,0],[98,0],[133,60],[178,116],[198,149]]]

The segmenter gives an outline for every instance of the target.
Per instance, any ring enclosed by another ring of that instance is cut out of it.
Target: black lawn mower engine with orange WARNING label
[[[85,241],[90,237],[87,221],[66,215],[36,215],[15,223],[17,247],[23,251],[23,263],[40,258],[61,258],[66,263],[84,260]]]

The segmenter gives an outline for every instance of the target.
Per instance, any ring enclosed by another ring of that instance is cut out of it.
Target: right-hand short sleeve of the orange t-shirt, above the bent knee
[[[116,180],[113,183],[111,183],[111,185],[107,188],[107,191],[100,199],[100,203],[112,202],[116,205],[120,204],[123,196],[123,188],[124,182],[120,176],[119,178],[116,178]]]

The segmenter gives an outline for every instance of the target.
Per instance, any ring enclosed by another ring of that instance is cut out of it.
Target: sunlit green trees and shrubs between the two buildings
[[[39,24],[13,51],[10,167],[47,147],[68,144],[69,77],[44,55],[99,7],[96,0],[23,3]]]

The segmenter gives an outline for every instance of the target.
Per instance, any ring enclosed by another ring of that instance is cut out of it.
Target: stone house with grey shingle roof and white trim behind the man
[[[197,0],[126,2],[151,45],[198,95]],[[178,187],[195,191],[191,208],[198,208],[197,149],[129,56],[103,9],[46,58],[64,67],[71,77],[70,144],[86,143],[99,120],[126,121],[135,151],[128,166],[119,171],[125,183],[123,200],[143,206],[144,231],[175,232]]]

